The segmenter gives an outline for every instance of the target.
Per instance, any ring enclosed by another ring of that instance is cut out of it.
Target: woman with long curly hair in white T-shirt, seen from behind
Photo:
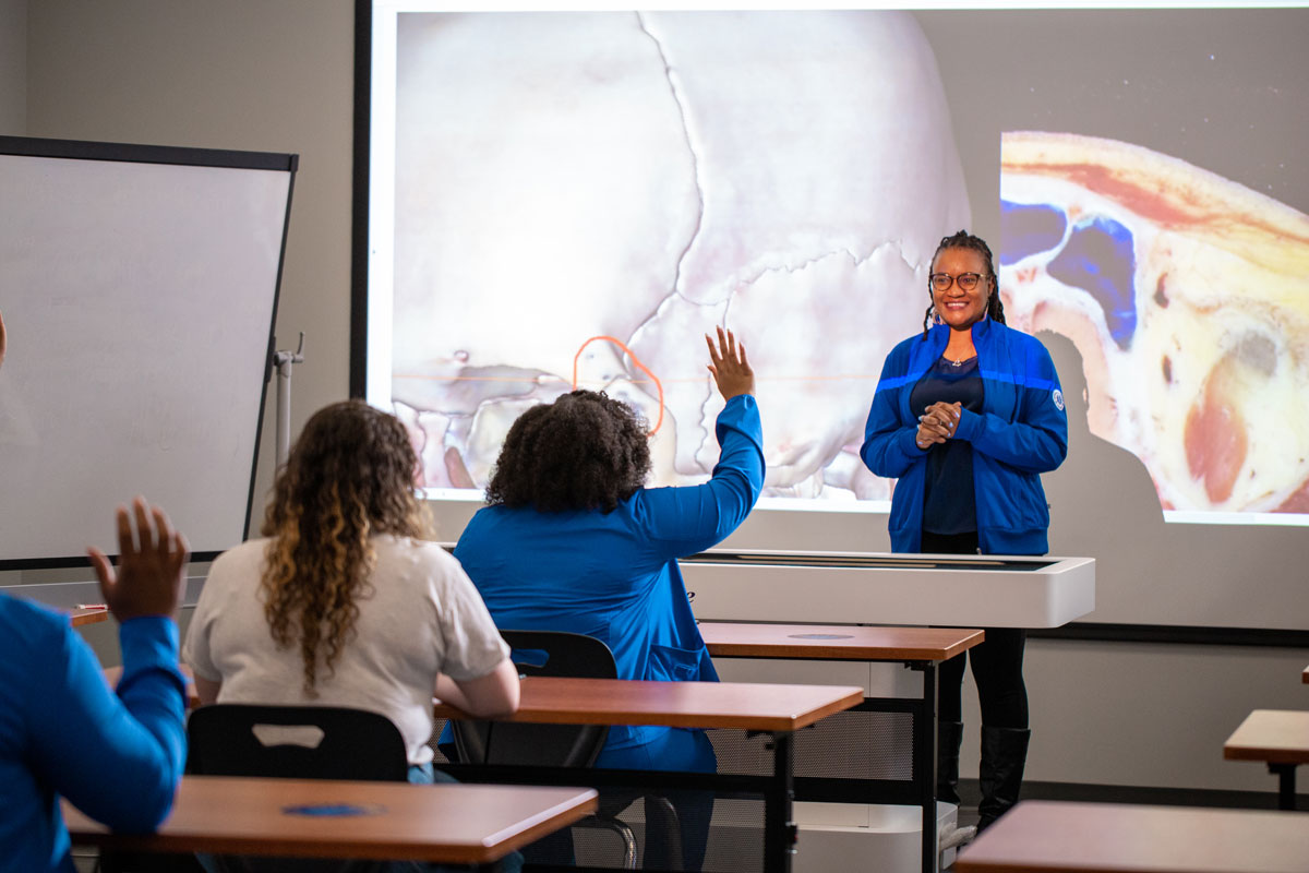
[[[315,412],[253,539],[213,561],[186,637],[202,703],[355,707],[389,717],[431,781],[432,695],[492,716],[518,674],[482,598],[428,542],[404,425],[363,401]]]

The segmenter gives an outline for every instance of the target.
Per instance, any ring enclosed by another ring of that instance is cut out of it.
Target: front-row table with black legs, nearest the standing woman
[[[902,662],[923,674],[918,698],[865,698],[855,709],[910,712],[914,720],[912,788],[908,798],[895,783],[870,781],[859,802],[905,804],[923,810],[922,868],[936,869],[936,670],[983,640],[971,628],[861,627],[851,624],[749,624],[700,622],[700,636],[715,658],[780,658]],[[796,798],[850,800],[833,796],[831,780],[796,777]],[[825,791],[826,789],[826,791]]]

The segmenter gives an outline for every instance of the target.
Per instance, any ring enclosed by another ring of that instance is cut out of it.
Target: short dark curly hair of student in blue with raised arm
[[[513,423],[487,503],[541,512],[613,512],[645,484],[645,421],[603,391],[573,391]]]

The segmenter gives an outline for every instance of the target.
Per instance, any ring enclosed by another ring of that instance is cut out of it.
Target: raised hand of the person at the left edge
[[[105,552],[96,547],[86,550],[99,577],[101,594],[119,622],[140,615],[175,618],[182,601],[182,568],[188,556],[186,538],[173,530],[162,509],[149,507],[143,497],[132,501],[132,514],[135,537],[127,508],[118,508],[117,575]]]

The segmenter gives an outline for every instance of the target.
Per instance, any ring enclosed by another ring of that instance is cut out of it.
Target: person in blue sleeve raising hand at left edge
[[[3,351],[3,343],[0,343]],[[68,615],[0,596],[0,870],[73,873],[67,797],[119,831],[154,830],[186,762],[177,624],[187,546],[158,508],[118,510],[118,573],[90,550],[119,622],[110,690]]]

